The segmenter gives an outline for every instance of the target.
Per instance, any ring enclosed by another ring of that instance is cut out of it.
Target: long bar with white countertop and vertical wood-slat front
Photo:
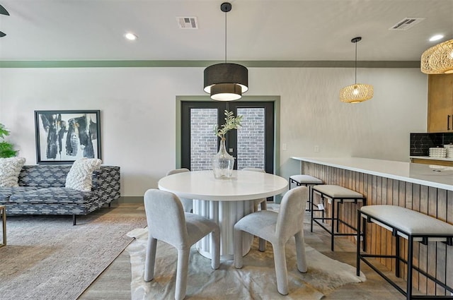
[[[398,205],[453,224],[453,167],[374,160],[360,157],[292,157],[301,162],[301,174],[322,179],[362,193],[367,205]],[[328,206],[328,205],[326,205]],[[357,224],[357,205],[341,205],[343,220]],[[326,208],[327,209],[327,208]],[[327,211],[327,214],[329,212]],[[341,228],[348,232],[348,228]],[[391,232],[369,224],[367,253],[391,255],[395,250]],[[405,256],[407,241],[399,238],[401,255]],[[355,239],[351,238],[352,242]],[[414,265],[429,275],[453,287],[453,246],[442,242],[416,243]],[[381,258],[380,262],[395,269],[395,260]],[[401,265],[406,280],[406,265]],[[438,284],[421,273],[413,273],[413,287],[422,293],[450,296]]]

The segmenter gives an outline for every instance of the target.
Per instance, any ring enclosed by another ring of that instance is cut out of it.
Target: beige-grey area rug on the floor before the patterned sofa
[[[7,218],[0,248],[0,299],[77,299],[130,244],[146,216],[105,213]]]

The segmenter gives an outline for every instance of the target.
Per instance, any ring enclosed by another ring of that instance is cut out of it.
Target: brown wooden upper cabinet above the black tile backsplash
[[[453,132],[453,74],[428,76],[428,132]]]

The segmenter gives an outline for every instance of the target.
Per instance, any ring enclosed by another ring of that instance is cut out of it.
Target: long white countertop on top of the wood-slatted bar
[[[325,166],[377,175],[423,186],[453,191],[453,167],[432,164],[413,164],[392,160],[374,160],[361,157],[291,157],[301,162],[313,162]]]

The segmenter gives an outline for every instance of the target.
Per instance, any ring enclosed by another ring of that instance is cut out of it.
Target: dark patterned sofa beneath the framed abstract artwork
[[[91,191],[65,188],[67,164],[25,165],[19,186],[0,187],[0,205],[6,215],[87,215],[120,198],[120,167],[101,166],[92,175]]]

